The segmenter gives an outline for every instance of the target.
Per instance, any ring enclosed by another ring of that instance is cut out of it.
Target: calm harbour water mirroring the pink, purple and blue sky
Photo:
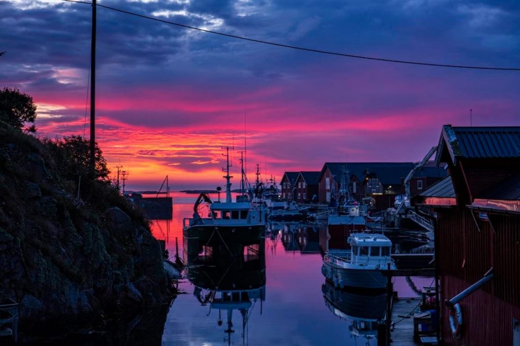
[[[182,221],[191,216],[197,196],[174,193],[173,197],[173,220],[156,221],[152,229],[156,238],[166,240],[170,255],[175,254],[177,238],[183,256]],[[370,319],[359,316],[377,317],[384,310],[384,297],[336,292],[325,285],[319,252],[320,233],[321,241],[325,239],[323,227],[276,224],[271,228],[265,239],[265,268],[259,256],[251,262],[213,263],[189,270],[190,279],[179,283],[183,294],[166,316],[164,345],[376,344],[374,339],[356,337],[353,326],[362,329],[369,323]],[[426,243],[414,237],[393,241],[400,252],[424,251]],[[234,333],[225,333],[227,311],[220,311],[219,316],[219,310],[207,302],[211,291],[193,284],[203,286],[204,282],[250,289],[250,303],[232,310]],[[414,297],[417,289],[431,283],[431,278],[396,278],[394,287],[399,296]]]

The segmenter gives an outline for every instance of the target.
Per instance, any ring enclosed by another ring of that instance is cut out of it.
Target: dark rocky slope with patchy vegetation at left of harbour
[[[146,220],[108,182],[64,174],[60,150],[0,127],[0,298],[20,303],[22,327],[163,301],[161,249]],[[89,188],[80,198],[78,186]]]

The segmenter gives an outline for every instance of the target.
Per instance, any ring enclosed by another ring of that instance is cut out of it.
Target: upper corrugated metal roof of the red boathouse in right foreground
[[[447,137],[455,156],[520,157],[520,127],[451,127],[451,130],[454,138],[451,135]]]

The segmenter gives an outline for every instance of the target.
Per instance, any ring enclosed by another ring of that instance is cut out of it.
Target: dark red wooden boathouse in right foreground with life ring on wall
[[[445,125],[436,162],[450,175],[412,202],[436,215],[443,344],[518,345],[520,127]]]

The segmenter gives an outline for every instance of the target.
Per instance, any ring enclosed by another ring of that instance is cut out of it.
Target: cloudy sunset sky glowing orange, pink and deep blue
[[[520,67],[520,2],[101,0],[232,35],[371,57]],[[38,135],[89,136],[91,6],[0,0],[0,87]],[[97,9],[96,139],[127,188],[233,188],[324,162],[419,161],[441,126],[520,126],[520,72],[375,62],[267,46]],[[86,115],[86,116],[85,116]],[[245,144],[244,144],[244,139]],[[114,173],[115,174],[115,173]]]

